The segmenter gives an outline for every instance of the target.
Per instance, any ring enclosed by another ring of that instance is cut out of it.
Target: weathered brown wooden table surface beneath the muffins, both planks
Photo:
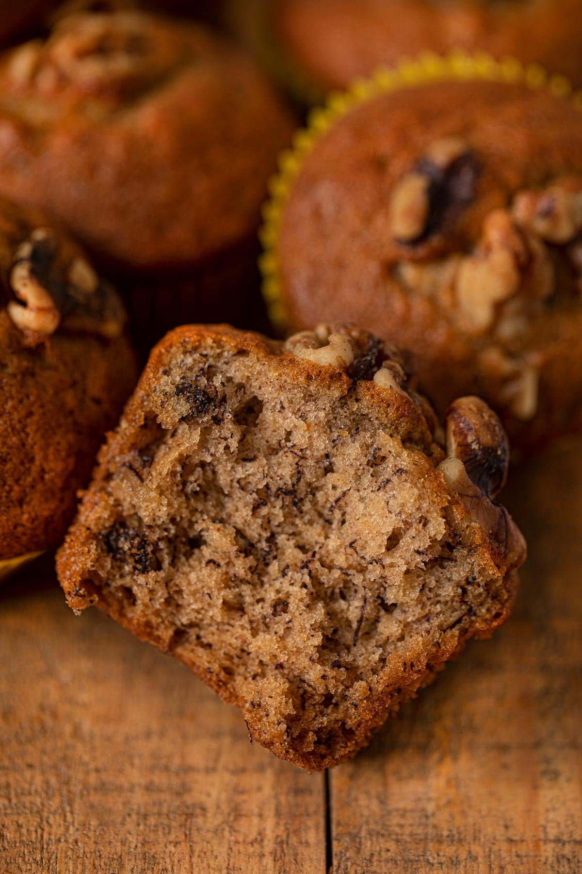
[[[0,588],[0,874],[579,874],[582,446],[518,469],[510,621],[353,762],[308,774],[51,557]]]

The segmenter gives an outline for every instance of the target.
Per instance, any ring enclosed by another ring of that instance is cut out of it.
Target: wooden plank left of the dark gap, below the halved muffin
[[[51,559],[0,590],[0,872],[325,871],[325,787]]]

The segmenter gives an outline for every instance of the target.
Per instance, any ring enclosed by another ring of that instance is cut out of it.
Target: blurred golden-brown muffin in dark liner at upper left
[[[0,59],[0,193],[136,277],[142,348],[256,322],[259,206],[291,130],[253,62],[195,24],[80,12]]]

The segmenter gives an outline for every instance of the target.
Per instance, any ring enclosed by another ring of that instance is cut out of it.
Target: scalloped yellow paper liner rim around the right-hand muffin
[[[259,239],[264,253],[259,259],[259,267],[263,276],[263,295],[270,322],[278,332],[283,332],[287,325],[278,238],[284,207],[305,157],[335,122],[361,104],[372,101],[380,94],[402,88],[451,80],[521,84],[532,91],[544,90],[556,97],[570,100],[576,108],[582,109],[582,90],[573,91],[572,84],[565,76],[551,75],[539,64],[524,65],[513,58],[497,61],[487,52],[471,54],[457,51],[444,56],[426,52],[418,59],[402,59],[397,66],[382,67],[369,79],[354,81],[344,92],[329,94],[321,108],[312,109],[307,126],[295,133],[291,149],[285,150],[279,156],[278,173],[269,184],[270,198],[262,209],[263,225],[259,231]]]

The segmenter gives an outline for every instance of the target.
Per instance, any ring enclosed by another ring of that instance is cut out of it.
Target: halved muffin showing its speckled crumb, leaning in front
[[[176,329],[58,553],[69,604],[186,662],[277,756],[352,756],[503,622],[524,560],[495,414],[458,400],[445,436],[413,386],[356,329]]]

